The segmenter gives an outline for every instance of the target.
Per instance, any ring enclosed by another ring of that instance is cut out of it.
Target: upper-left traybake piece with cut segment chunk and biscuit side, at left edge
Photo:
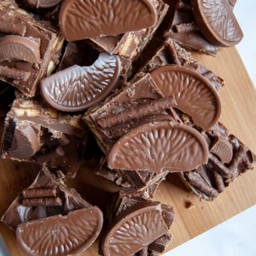
[[[64,42],[62,35],[50,23],[36,21],[10,0],[0,3],[0,32],[0,51],[7,59],[1,58],[0,80],[26,96],[34,96],[41,79],[50,75],[58,64]]]

